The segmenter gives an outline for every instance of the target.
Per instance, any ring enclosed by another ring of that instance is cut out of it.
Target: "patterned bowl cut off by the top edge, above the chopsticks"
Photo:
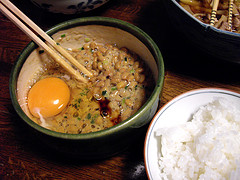
[[[77,14],[96,9],[109,0],[31,0],[38,7],[53,13]]]

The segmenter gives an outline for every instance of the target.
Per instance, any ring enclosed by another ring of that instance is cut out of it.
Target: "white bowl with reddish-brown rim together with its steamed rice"
[[[150,180],[240,177],[240,94],[219,88],[186,92],[153,118],[145,139]]]

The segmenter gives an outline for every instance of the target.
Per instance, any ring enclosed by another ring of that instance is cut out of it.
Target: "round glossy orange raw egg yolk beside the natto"
[[[28,107],[35,117],[59,114],[68,104],[70,89],[61,79],[50,77],[38,81],[28,93]]]

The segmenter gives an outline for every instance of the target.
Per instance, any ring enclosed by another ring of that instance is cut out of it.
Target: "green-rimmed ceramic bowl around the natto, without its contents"
[[[12,104],[23,122],[37,132],[43,141],[59,152],[77,155],[80,158],[108,157],[122,151],[133,142],[139,133],[146,130],[147,124],[153,118],[163,88],[163,58],[157,45],[146,33],[130,23],[117,19],[105,17],[74,19],[54,26],[47,33],[53,35],[61,30],[73,27],[80,27],[81,32],[86,31],[89,37],[98,37],[96,41],[99,40],[99,42],[103,41],[110,44],[116,43],[119,47],[127,47],[145,60],[153,72],[156,82],[156,86],[147,102],[132,117],[111,128],[98,132],[66,134],[39,126],[27,115],[26,102],[24,102],[28,81],[34,75],[36,69],[39,69],[39,66],[34,63],[35,60],[26,62],[26,59],[31,56],[31,53],[37,47],[35,43],[31,42],[22,51],[12,69],[10,76]],[[65,48],[68,46],[69,44]],[[27,63],[31,68],[25,69]]]

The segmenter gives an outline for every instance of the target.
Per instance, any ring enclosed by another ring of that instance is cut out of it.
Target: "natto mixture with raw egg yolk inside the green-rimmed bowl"
[[[18,91],[18,101],[35,123],[61,133],[100,131],[132,116],[150,97],[155,80],[148,65],[126,47],[98,42],[104,35],[93,37],[90,32],[96,29],[99,26],[75,27],[53,35],[92,72],[88,83],[74,79],[41,49],[26,60],[18,87],[24,81],[28,88]],[[114,30],[104,29],[102,33]]]

